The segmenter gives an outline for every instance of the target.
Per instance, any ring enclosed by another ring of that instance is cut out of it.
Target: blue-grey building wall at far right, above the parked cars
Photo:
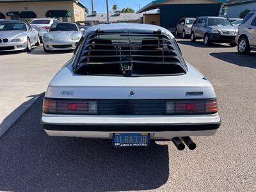
[[[244,10],[256,10],[256,3],[244,3],[228,6],[227,18],[239,18],[239,15]]]

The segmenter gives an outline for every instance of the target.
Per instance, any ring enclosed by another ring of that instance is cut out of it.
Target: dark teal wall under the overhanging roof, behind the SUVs
[[[218,16],[221,4],[166,4],[160,6],[160,25],[175,31],[182,17]]]

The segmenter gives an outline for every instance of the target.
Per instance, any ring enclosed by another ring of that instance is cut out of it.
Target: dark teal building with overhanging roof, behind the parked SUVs
[[[143,13],[143,22],[160,24],[175,31],[175,26],[182,17],[218,16],[221,4],[226,0],[155,0],[136,13]],[[157,13],[145,13],[159,9]]]

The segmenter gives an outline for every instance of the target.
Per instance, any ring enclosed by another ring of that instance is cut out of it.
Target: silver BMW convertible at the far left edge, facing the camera
[[[38,31],[19,20],[0,21],[0,51],[31,51],[40,45]]]

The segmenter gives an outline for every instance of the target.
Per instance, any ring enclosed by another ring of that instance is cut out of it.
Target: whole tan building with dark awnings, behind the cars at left
[[[84,20],[81,0],[0,0],[0,19],[55,18],[63,22]]]

